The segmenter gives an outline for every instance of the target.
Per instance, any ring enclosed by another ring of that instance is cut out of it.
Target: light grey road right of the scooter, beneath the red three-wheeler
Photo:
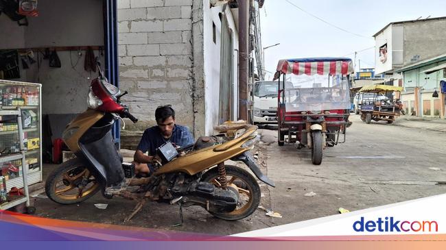
[[[320,166],[308,149],[268,147],[272,208],[281,221],[303,221],[446,192],[446,133],[384,122],[366,124],[358,116],[347,142],[328,148]],[[277,135],[275,131],[263,134]],[[442,168],[441,170],[433,170]],[[305,197],[316,192],[314,197]],[[279,221],[278,219],[276,221]]]

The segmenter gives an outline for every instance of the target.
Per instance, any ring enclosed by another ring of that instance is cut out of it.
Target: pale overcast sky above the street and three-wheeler
[[[260,14],[262,47],[280,43],[265,50],[265,69],[271,72],[266,74],[268,80],[277,62],[285,58],[344,56],[353,60],[358,51],[356,69],[359,65],[373,68],[375,50],[368,48],[375,46],[375,33],[391,22],[446,16],[446,1],[265,0]]]

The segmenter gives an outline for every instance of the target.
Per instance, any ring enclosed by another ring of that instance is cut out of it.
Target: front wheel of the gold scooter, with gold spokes
[[[80,184],[86,180],[84,188]],[[69,160],[54,169],[45,182],[45,193],[51,201],[60,204],[80,203],[100,190],[99,183],[78,159]]]

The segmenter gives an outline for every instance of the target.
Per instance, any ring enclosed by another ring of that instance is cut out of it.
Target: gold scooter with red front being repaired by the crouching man
[[[250,154],[257,140],[257,126],[220,126],[219,136],[198,138],[195,145],[180,149],[167,142],[157,149],[157,159],[161,160],[153,164],[152,175],[135,177],[134,166],[123,162],[111,131],[117,119],[138,120],[121,103],[127,91],[121,94],[119,88],[108,84],[97,64],[99,77],[91,82],[89,109],[75,117],[62,134],[76,158],[60,164],[47,177],[45,192],[49,199],[60,204],[80,203],[99,190],[112,198],[104,192],[106,187],[127,178],[128,188],[115,195],[138,202],[124,221],[141,210],[146,201],[179,204],[180,214],[183,207],[198,205],[228,221],[255,212],[261,197],[257,180],[243,168],[224,162],[244,162],[261,182],[274,187]]]

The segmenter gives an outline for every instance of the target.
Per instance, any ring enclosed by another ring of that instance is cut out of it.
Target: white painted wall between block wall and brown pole
[[[203,33],[204,33],[204,86],[205,86],[205,113],[206,135],[213,134],[213,127],[218,123],[219,99],[220,99],[220,39],[221,39],[221,21],[218,16],[223,10],[223,6],[209,8],[209,0],[203,1]],[[229,27],[233,31],[233,46],[238,49],[238,32],[235,26],[233,15],[229,8],[226,8],[226,17]],[[212,39],[212,22],[215,23],[216,40]],[[234,107],[237,116],[237,95],[238,95],[238,71],[237,71],[237,52],[234,51]]]

